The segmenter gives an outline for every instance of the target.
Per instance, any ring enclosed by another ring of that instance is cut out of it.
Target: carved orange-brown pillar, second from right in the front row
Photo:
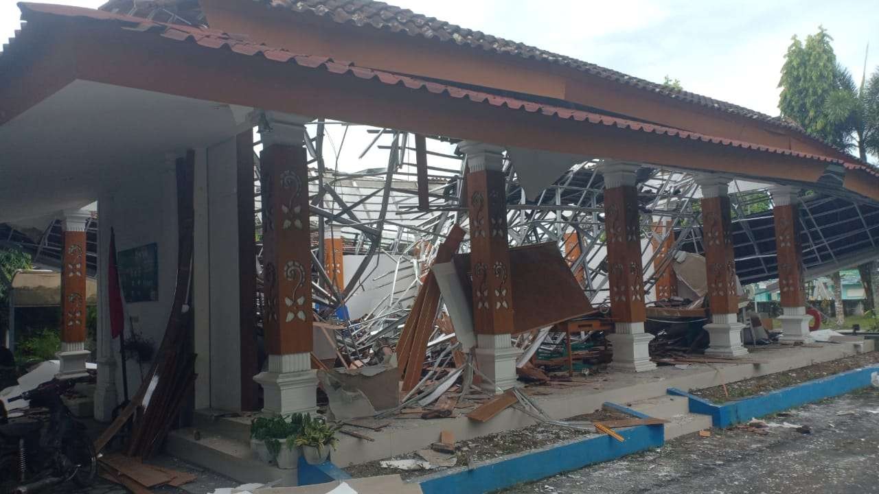
[[[705,274],[708,277],[708,306],[711,323],[707,354],[739,357],[748,353],[742,346],[736,294],[736,256],[732,249],[732,224],[728,185],[730,178],[705,176],[696,182],[702,189],[702,244],[705,247]]]

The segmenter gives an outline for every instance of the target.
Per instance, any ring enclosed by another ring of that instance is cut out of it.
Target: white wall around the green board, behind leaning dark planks
[[[165,163],[141,167],[142,173],[124,182],[108,186],[98,201],[100,215],[98,256],[99,316],[98,360],[116,364],[113,374],[116,396],[103,386],[96,411],[113,409],[110,402],[122,399],[119,341],[112,340],[106,303],[106,265],[110,228],[116,231],[116,249],[122,251],[147,243],[157,244],[158,300],[126,303],[126,317],[134,320],[134,331],[152,339],[156,349],[161,344],[177,280],[177,186],[173,156]],[[193,190],[194,258],[193,323],[195,367],[195,407],[240,410],[240,338],[238,298],[238,254],[236,214],[236,145],[235,139],[207,149],[196,149]],[[126,338],[131,336],[126,319]],[[128,360],[128,389],[133,396],[139,388],[143,371],[137,362]],[[98,388],[102,388],[98,386]],[[97,401],[97,400],[96,400]]]

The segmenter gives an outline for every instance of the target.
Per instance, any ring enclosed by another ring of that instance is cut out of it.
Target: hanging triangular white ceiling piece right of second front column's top
[[[589,161],[580,155],[538,151],[535,149],[506,149],[512,161],[512,167],[519,177],[519,185],[525,190],[528,200],[536,200],[541,193],[558,180],[565,171],[577,163]]]

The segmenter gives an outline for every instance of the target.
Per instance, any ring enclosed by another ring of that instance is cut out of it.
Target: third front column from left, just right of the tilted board
[[[636,171],[630,163],[604,163],[607,276],[614,334],[611,367],[628,372],[656,368],[650,361],[653,335],[644,332],[644,280]]]

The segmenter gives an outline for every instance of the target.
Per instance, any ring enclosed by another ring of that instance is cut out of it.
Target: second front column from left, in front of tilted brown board
[[[506,192],[503,148],[465,141],[458,149],[467,155],[469,173],[470,268],[473,272],[473,320],[476,365],[495,386],[491,393],[516,385],[519,349],[512,341],[510,253],[506,230]]]

